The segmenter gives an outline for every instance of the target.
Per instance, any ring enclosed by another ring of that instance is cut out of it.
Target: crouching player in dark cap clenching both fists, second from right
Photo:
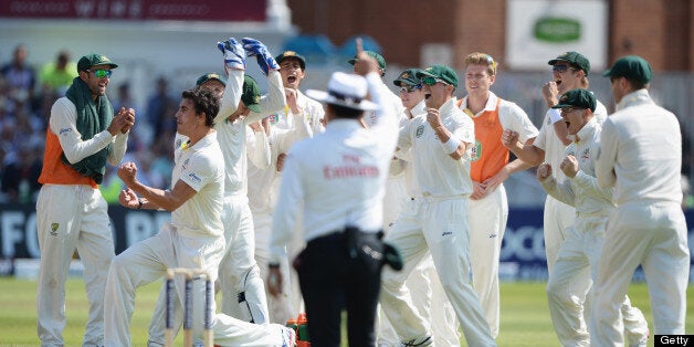
[[[614,210],[612,189],[598,187],[595,177],[601,130],[592,114],[596,105],[595,96],[586,90],[571,90],[561,96],[554,108],[561,109],[568,134],[576,140],[567,147],[567,157],[559,168],[541,164],[537,170],[549,194],[576,208],[575,225],[561,243],[547,284],[549,313],[561,346],[590,346],[588,318],[583,317],[590,311],[583,311],[588,306],[583,305],[586,297],[576,296],[572,286],[595,280],[608,218]],[[551,177],[554,169],[564,171],[564,183],[557,185]],[[641,311],[624,297],[621,313],[630,346],[645,346],[649,328]]]

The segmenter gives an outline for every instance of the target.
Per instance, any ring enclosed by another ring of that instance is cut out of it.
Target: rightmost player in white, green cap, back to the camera
[[[652,74],[637,55],[604,72],[617,112],[602,126],[596,175],[601,187],[614,187],[617,210],[598,264],[592,346],[623,344],[620,305],[639,265],[649,285],[654,334],[685,333],[690,249],[680,206],[682,137],[676,116],[649,95]]]

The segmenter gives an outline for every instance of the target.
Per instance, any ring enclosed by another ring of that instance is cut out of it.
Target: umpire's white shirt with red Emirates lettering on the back
[[[290,150],[273,217],[273,262],[286,256],[284,245],[292,238],[299,212],[306,241],[348,225],[364,232],[381,230],[385,183],[398,126],[396,114],[382,107],[378,74],[367,75],[367,83],[371,101],[381,106],[372,127],[366,129],[353,119],[333,119],[325,133]]]

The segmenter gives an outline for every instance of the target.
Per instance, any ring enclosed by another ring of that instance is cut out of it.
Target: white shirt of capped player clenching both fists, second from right
[[[593,117],[577,134],[578,141],[566,148],[566,155],[572,155],[578,160],[578,172],[558,183],[554,177],[541,181],[543,188],[557,200],[576,208],[578,217],[602,215],[608,217],[614,209],[612,189],[598,186],[596,178],[596,161],[600,151],[600,124]],[[553,167],[560,170],[559,167]]]

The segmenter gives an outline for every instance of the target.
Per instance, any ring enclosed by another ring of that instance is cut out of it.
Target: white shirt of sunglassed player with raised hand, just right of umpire
[[[441,123],[452,136],[469,144],[475,141],[472,119],[456,107],[455,97],[439,108]],[[400,129],[400,150],[412,149],[416,186],[424,197],[453,197],[472,193],[470,150],[454,160],[439,140],[427,115],[417,116]]]

